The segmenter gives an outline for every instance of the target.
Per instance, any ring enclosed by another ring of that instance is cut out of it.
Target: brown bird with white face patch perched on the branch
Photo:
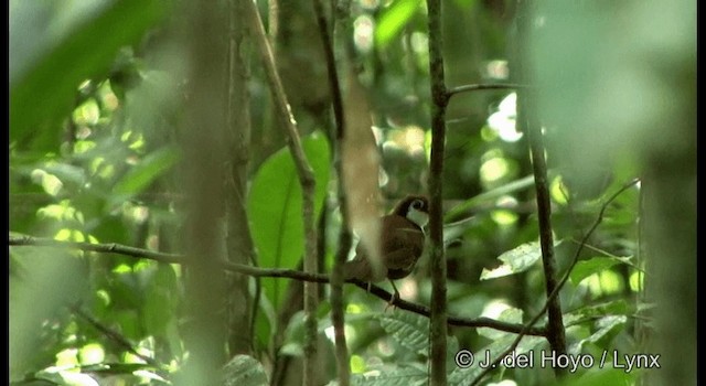
[[[391,214],[382,217],[382,269],[377,272],[373,269],[367,254],[359,244],[355,257],[343,265],[344,278],[359,279],[368,283],[387,278],[395,291],[391,299],[392,304],[399,298],[399,291],[393,280],[411,274],[424,251],[424,227],[428,221],[429,199],[424,195],[407,195],[400,200]]]

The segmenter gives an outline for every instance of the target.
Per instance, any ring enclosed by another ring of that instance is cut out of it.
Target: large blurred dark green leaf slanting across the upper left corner
[[[114,1],[28,62],[26,68],[15,68],[10,85],[10,142],[39,142],[43,150],[57,150],[60,120],[69,115],[78,85],[105,74],[118,50],[137,42],[165,15],[168,7],[169,2],[159,0]],[[23,39],[28,37],[32,36]]]

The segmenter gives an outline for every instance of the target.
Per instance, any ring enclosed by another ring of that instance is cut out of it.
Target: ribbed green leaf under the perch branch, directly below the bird
[[[428,355],[429,320],[416,313],[395,310],[379,315],[379,325],[402,346]]]

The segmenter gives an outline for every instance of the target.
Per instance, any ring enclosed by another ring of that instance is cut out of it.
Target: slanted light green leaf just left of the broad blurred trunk
[[[125,201],[142,192],[157,178],[170,170],[180,159],[179,150],[173,146],[165,146],[145,157],[132,167],[113,187],[113,203]]]

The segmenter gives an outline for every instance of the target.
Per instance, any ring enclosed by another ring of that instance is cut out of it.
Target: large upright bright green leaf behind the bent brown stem
[[[327,138],[315,132],[302,140],[304,154],[315,178],[314,215],[325,199],[331,152]],[[253,240],[259,265],[293,269],[304,251],[302,195],[295,162],[288,148],[269,157],[257,171],[247,203]],[[263,279],[265,294],[275,308],[280,299],[280,279]]]

